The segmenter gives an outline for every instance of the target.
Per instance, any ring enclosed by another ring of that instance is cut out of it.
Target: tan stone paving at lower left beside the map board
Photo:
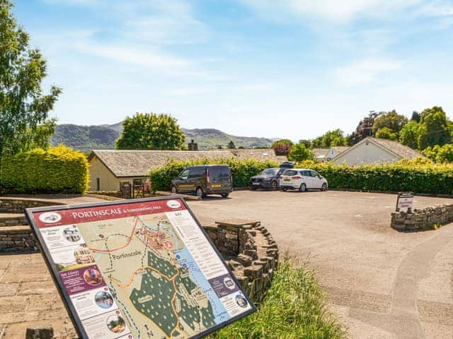
[[[41,254],[0,256],[0,338],[24,339],[33,326],[76,338]]]

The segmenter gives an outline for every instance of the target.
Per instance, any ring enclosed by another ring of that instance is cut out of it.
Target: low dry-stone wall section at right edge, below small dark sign
[[[391,227],[400,232],[432,230],[449,222],[453,222],[453,203],[391,213]]]

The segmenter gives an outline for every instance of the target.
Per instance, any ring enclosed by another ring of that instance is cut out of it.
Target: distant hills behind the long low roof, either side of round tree
[[[93,149],[105,150],[115,148],[115,140],[120,136],[122,123],[99,126],[79,126],[73,124],[58,125],[52,136],[52,145],[64,143],[76,150],[90,153]],[[231,136],[218,129],[183,129],[185,142],[194,140],[200,150],[217,148],[233,141],[236,147],[243,148],[269,147],[273,140],[248,136]]]

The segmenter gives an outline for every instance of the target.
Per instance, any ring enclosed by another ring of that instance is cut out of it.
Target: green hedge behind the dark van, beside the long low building
[[[258,160],[237,160],[237,159],[202,159],[202,160],[187,160],[175,161],[168,160],[162,167],[151,169],[149,172],[149,180],[153,191],[168,191],[171,188],[171,181],[178,174],[191,165],[229,165],[233,176],[234,187],[248,186],[250,177],[270,167],[278,167],[279,163],[274,161],[258,161]]]

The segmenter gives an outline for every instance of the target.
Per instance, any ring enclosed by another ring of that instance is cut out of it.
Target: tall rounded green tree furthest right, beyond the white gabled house
[[[442,146],[452,141],[452,130],[442,107],[425,109],[421,114],[420,124],[426,128],[420,130],[421,141],[418,145],[420,149],[434,145]]]

